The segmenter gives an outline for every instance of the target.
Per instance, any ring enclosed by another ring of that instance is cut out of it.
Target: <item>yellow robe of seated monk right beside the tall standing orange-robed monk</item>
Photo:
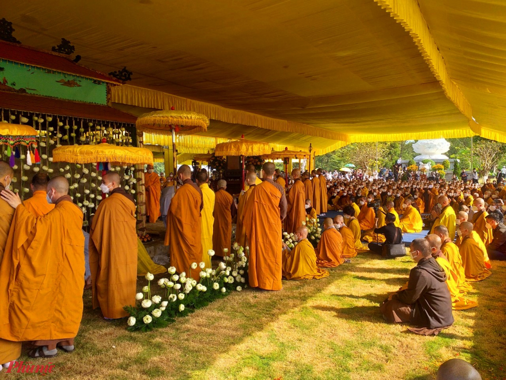
[[[316,254],[308,239],[301,240],[291,251],[283,251],[283,277],[287,280],[311,280],[328,276],[316,266]]]

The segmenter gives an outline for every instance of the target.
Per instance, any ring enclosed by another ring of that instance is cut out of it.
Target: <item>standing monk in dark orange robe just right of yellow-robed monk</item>
[[[232,213],[235,214],[234,199],[227,193],[227,181],[218,181],[213,216],[213,249],[217,256],[224,256],[223,250],[230,249],[232,240]],[[205,252],[204,252],[205,253]]]

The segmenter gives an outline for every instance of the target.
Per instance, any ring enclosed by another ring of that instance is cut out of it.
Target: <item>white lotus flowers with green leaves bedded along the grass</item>
[[[130,331],[151,331],[155,328],[165,327],[175,321],[177,316],[186,316],[195,310],[207,306],[209,302],[223,298],[231,291],[241,291],[247,287],[248,247],[243,248],[234,243],[233,251],[229,254],[224,249],[224,261],[218,268],[205,268],[203,262],[193,262],[188,268],[189,272],[200,268],[199,278],[186,276],[186,272],[176,274],[176,268],[167,270],[168,278],[157,281],[162,290],[161,295],[151,294],[151,281],[154,276],[146,274],[148,285],[142,292],[136,294],[136,305],[125,306],[123,309],[130,314],[127,329]],[[207,251],[214,256],[215,251]]]

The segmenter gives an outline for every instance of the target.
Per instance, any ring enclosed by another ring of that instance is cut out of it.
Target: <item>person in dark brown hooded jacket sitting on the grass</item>
[[[410,246],[416,261],[407,287],[391,295],[379,308],[390,323],[409,322],[408,330],[421,335],[437,335],[453,324],[451,296],[446,275],[432,257],[426,239],[415,239]]]

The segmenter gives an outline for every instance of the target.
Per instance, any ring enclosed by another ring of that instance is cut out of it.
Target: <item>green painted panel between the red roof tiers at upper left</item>
[[[107,104],[105,82],[1,59],[0,90]]]

